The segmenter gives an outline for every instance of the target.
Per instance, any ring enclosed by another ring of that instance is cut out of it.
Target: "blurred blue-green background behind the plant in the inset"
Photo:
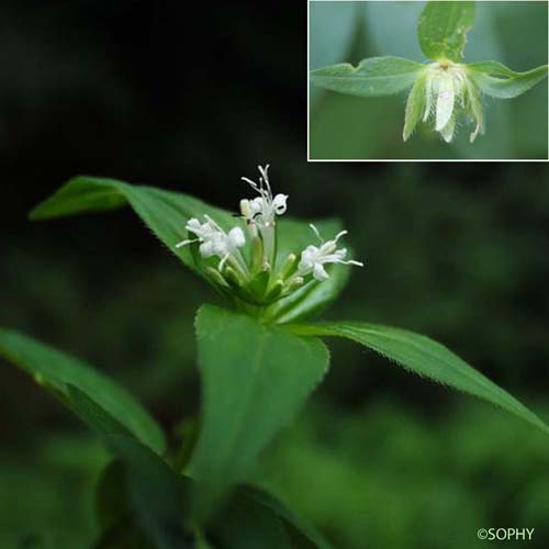
[[[425,2],[312,1],[311,70],[336,63],[357,65],[393,55],[425,61],[416,35]],[[547,65],[547,2],[477,2],[466,63],[498,60],[516,71]],[[547,79],[511,100],[483,98],[485,134],[469,143],[471,126],[458,121],[451,144],[421,123],[404,143],[407,92],[357,98],[311,85],[311,159],[547,159]]]

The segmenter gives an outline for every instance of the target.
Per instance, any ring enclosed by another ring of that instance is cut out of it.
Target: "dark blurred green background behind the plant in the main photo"
[[[236,210],[239,177],[270,161],[290,212],[341,217],[367,261],[327,317],[428,334],[549,421],[547,167],[307,165],[294,12],[2,4],[0,324],[88,359],[173,430],[199,410],[193,314],[209,289],[130,211],[47,224],[26,212],[75,173]],[[546,437],[329,343],[325,383],[266,452],[268,485],[341,549],[498,547],[477,530],[501,526],[534,527],[528,547],[547,547]],[[108,456],[3,362],[0,392],[0,547],[90,547]]]

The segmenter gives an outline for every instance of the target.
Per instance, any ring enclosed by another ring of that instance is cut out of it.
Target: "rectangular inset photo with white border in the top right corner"
[[[310,161],[548,161],[548,4],[310,1]]]

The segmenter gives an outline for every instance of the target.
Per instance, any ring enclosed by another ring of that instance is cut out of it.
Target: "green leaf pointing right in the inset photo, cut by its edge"
[[[467,68],[480,90],[497,99],[516,98],[547,78],[547,65],[527,72],[515,72],[497,61],[471,63]]]

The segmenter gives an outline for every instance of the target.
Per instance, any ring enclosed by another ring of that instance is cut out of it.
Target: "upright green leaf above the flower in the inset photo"
[[[427,2],[417,26],[422,52],[429,59],[461,61],[473,24],[474,2]]]

